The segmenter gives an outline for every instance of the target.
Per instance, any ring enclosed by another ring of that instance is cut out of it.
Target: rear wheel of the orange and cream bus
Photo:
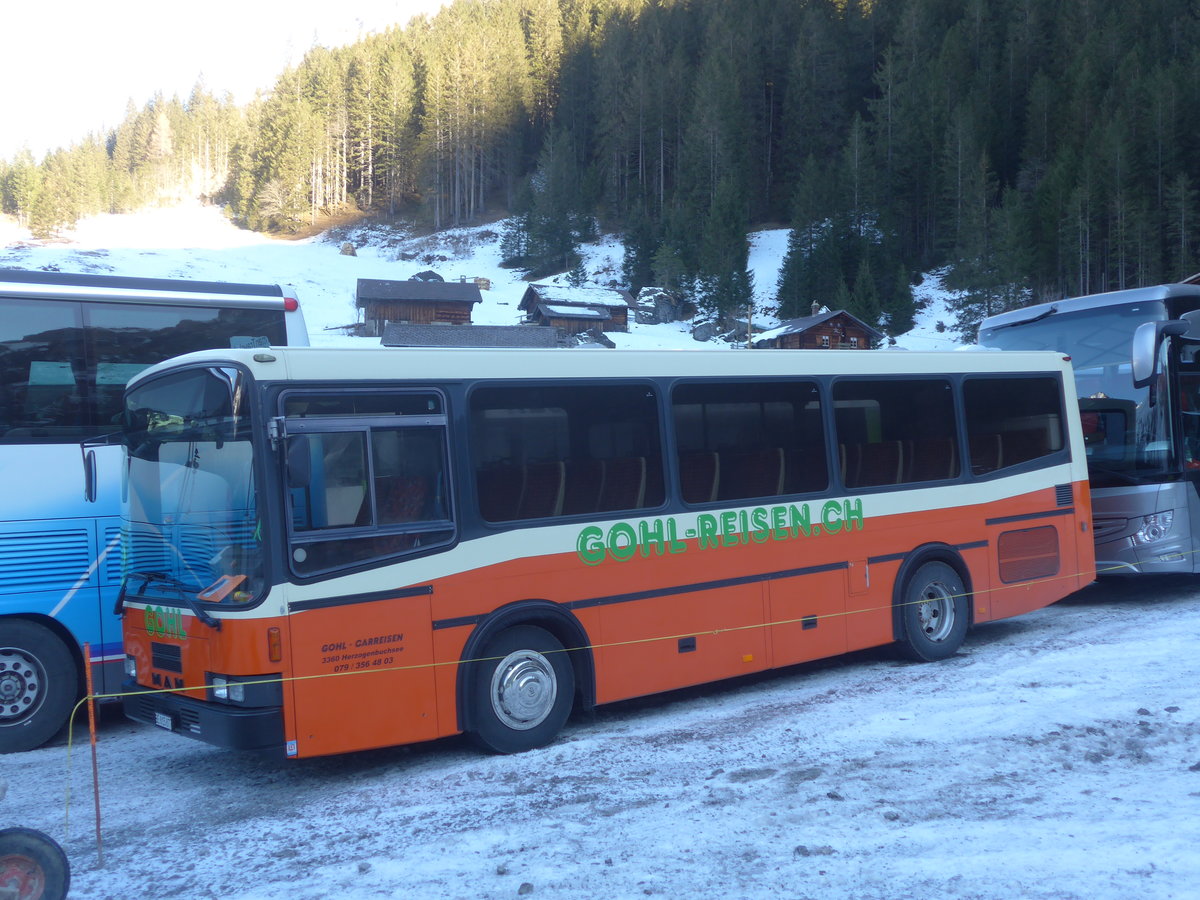
[[[900,594],[900,650],[919,662],[947,659],[967,635],[971,607],[954,566],[930,562],[905,581]]]

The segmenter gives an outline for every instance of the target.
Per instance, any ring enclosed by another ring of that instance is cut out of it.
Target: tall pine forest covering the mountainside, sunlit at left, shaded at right
[[[131,102],[0,161],[0,203],[38,235],[191,197],[278,233],[503,220],[532,274],[617,233],[623,287],[718,318],[750,302],[748,233],[786,227],[780,318],[900,334],[944,268],[971,336],[1200,269],[1198,119],[1195,0],[454,0],[248,104]]]

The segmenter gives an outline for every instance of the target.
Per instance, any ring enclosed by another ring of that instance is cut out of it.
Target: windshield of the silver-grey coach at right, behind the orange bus
[[[1138,325],[1166,318],[1160,301],[1100,306],[982,329],[979,343],[1070,356],[1092,486],[1142,484],[1177,468],[1165,379],[1151,406],[1150,389],[1133,386],[1129,364]]]

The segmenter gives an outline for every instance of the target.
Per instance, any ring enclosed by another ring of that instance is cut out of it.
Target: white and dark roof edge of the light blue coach
[[[280,284],[0,269],[0,296],[180,305],[212,301],[223,306],[282,308],[284,299],[294,299],[295,292]]]

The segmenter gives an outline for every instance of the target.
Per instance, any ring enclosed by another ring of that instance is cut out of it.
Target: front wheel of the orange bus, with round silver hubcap
[[[493,754],[545,746],[566,724],[575,673],[563,644],[536,625],[514,625],[487,641],[473,665],[470,737]]]

